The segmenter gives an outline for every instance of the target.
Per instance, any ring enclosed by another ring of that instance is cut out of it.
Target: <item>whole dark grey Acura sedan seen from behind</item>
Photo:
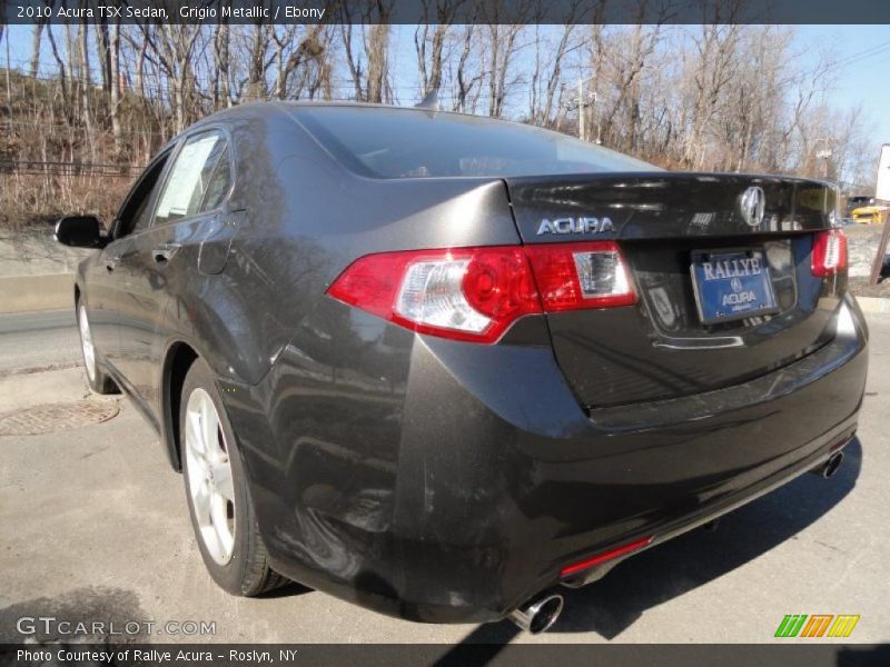
[[[174,139],[73,300],[226,590],[546,629],[562,586],[856,434],[829,185],[683,173],[433,109],[267,102]],[[159,554],[159,558],[164,555]]]

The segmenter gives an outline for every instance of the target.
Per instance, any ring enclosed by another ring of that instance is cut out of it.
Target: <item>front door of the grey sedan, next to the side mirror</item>
[[[131,252],[134,240],[151,223],[152,201],[169,157],[166,150],[137,179],[111,226],[111,241],[102,249],[88,277],[87,306],[93,341],[106,362],[119,370],[120,319],[127,276],[120,262]]]

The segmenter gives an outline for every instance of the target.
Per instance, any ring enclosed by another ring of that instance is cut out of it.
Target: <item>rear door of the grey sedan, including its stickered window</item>
[[[227,146],[226,133],[218,129],[181,141],[155,199],[150,228],[134,235],[120,259],[126,293],[118,366],[149,408],[159,405],[167,303],[197,272],[200,240],[228,193]]]

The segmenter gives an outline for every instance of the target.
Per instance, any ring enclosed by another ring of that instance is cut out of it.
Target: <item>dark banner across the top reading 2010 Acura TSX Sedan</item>
[[[0,23],[890,23],[888,0],[2,0]]]

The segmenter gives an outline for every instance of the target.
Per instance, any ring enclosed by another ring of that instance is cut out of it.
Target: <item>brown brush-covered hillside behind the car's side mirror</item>
[[[0,228],[46,223],[63,213],[110,220],[132,179],[165,138],[132,93],[113,136],[101,87],[0,69]],[[83,109],[89,112],[85,113]],[[83,119],[88,119],[85,121]]]

